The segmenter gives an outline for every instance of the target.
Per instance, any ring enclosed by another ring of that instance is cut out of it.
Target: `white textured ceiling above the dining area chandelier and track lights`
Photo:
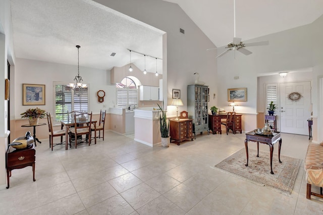
[[[110,70],[130,63],[128,49],[163,58],[165,33],[89,0],[11,0],[17,58]],[[111,53],[116,52],[115,57]],[[132,52],[132,63],[144,69],[144,57]],[[158,60],[158,73],[162,64]],[[148,72],[156,60],[146,57]]]

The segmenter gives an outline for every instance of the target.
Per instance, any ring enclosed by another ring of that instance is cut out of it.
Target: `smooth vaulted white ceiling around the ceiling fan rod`
[[[234,37],[234,0],[164,0],[178,4],[217,47]],[[236,37],[253,39],[312,23],[323,0],[235,0]]]

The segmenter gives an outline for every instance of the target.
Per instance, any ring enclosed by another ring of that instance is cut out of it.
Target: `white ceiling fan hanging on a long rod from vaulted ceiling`
[[[225,50],[220,55],[218,55],[217,58],[225,55],[225,53],[227,53],[227,52],[229,52],[231,50],[238,50],[241,53],[243,53],[244,55],[250,55],[252,52],[245,49],[245,47],[257,46],[257,45],[268,45],[269,44],[268,41],[243,43],[241,41],[241,38],[236,37],[236,0],[233,0],[233,13],[234,13],[234,37],[233,37],[233,41],[228,43],[228,45],[225,47],[225,48],[227,48],[227,50]],[[216,49],[216,48],[209,48],[209,49],[206,49],[206,50],[212,50],[212,49]]]

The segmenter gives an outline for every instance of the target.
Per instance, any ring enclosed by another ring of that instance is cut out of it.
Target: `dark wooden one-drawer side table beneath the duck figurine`
[[[34,144],[31,144],[30,147],[27,147],[24,149],[16,149],[12,152],[10,151],[12,151],[11,146],[9,147],[6,154],[7,183],[8,183],[8,186],[6,188],[9,189],[11,171],[15,169],[22,169],[29,166],[32,167],[33,181],[36,181],[35,179],[36,150],[35,150]]]

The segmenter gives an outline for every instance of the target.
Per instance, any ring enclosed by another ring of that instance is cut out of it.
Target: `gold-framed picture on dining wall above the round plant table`
[[[45,85],[43,84],[22,84],[23,105],[44,105]]]

